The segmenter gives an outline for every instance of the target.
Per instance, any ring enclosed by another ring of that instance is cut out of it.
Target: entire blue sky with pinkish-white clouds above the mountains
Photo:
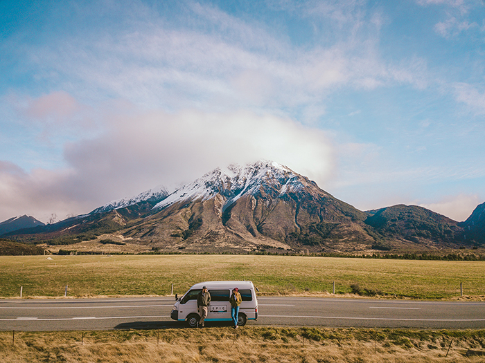
[[[0,1],[0,221],[274,160],[360,210],[485,201],[485,1]]]

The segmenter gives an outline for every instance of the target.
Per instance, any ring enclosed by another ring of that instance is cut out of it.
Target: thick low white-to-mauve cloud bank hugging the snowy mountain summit
[[[0,220],[87,213],[160,184],[175,189],[231,163],[275,160],[317,183],[333,169],[323,131],[248,111],[110,114],[105,133],[67,144],[65,158],[65,169],[30,173],[3,162]]]

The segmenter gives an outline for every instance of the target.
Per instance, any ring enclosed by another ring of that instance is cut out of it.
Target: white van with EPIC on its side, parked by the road
[[[243,301],[239,306],[238,326],[246,324],[247,320],[258,319],[258,299],[252,281],[206,281],[192,286],[173,306],[170,317],[178,322],[186,321],[188,326],[195,328],[200,316],[197,310],[197,295],[206,286],[211,293],[211,304],[205,319],[206,322],[231,322],[231,304],[229,297],[233,288],[238,288]]]

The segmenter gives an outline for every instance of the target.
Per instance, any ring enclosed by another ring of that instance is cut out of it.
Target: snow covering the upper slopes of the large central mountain
[[[245,194],[256,194],[261,187],[279,187],[280,194],[297,192],[304,187],[301,178],[288,167],[272,161],[262,160],[245,167],[229,165],[224,169],[217,168],[177,189],[153,209],[161,209],[179,201],[204,201],[215,194],[226,198],[225,208]]]

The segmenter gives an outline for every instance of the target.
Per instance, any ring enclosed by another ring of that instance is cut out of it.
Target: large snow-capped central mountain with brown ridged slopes
[[[177,189],[125,236],[187,250],[207,250],[209,245],[211,250],[252,250],[261,244],[283,250],[321,248],[326,239],[369,243],[360,226],[365,218],[364,212],[288,167],[259,161],[217,168]]]

